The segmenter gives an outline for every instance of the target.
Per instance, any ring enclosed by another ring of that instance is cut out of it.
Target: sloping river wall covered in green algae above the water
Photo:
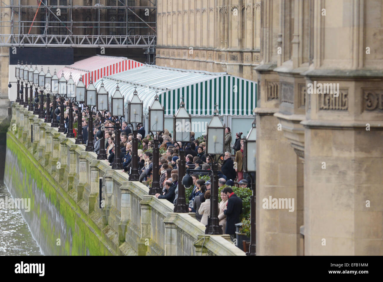
[[[13,197],[31,198],[31,210],[21,212],[44,254],[115,254],[100,228],[10,132],[5,182]]]

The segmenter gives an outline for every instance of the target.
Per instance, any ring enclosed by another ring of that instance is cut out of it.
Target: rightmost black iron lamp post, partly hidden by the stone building
[[[250,196],[250,249],[247,256],[255,256],[255,189],[256,189],[256,171],[257,171],[257,133],[255,118],[252,128],[244,138],[244,171],[250,175],[252,196]]]

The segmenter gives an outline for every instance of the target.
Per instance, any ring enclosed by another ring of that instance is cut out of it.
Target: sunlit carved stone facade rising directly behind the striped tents
[[[259,0],[158,0],[157,7],[157,65],[257,80]]]

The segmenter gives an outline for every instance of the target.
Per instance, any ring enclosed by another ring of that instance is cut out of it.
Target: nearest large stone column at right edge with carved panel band
[[[381,3],[314,3],[313,67],[303,73],[310,100],[302,121],[304,251],[382,255]]]

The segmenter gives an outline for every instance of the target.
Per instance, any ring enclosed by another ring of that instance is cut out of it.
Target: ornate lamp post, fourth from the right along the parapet
[[[154,101],[152,103],[152,106],[149,107],[149,133],[153,135],[154,140],[154,148],[153,148],[153,181],[152,181],[152,188],[149,189],[149,195],[155,195],[156,193],[161,193],[160,189],[160,182],[159,182],[159,149],[158,144],[159,141],[157,139],[157,135],[154,138],[154,133],[164,131],[164,124],[165,124],[165,115],[164,115],[164,107],[162,107],[159,97],[157,94],[154,96]],[[178,186],[179,191],[179,186]]]

